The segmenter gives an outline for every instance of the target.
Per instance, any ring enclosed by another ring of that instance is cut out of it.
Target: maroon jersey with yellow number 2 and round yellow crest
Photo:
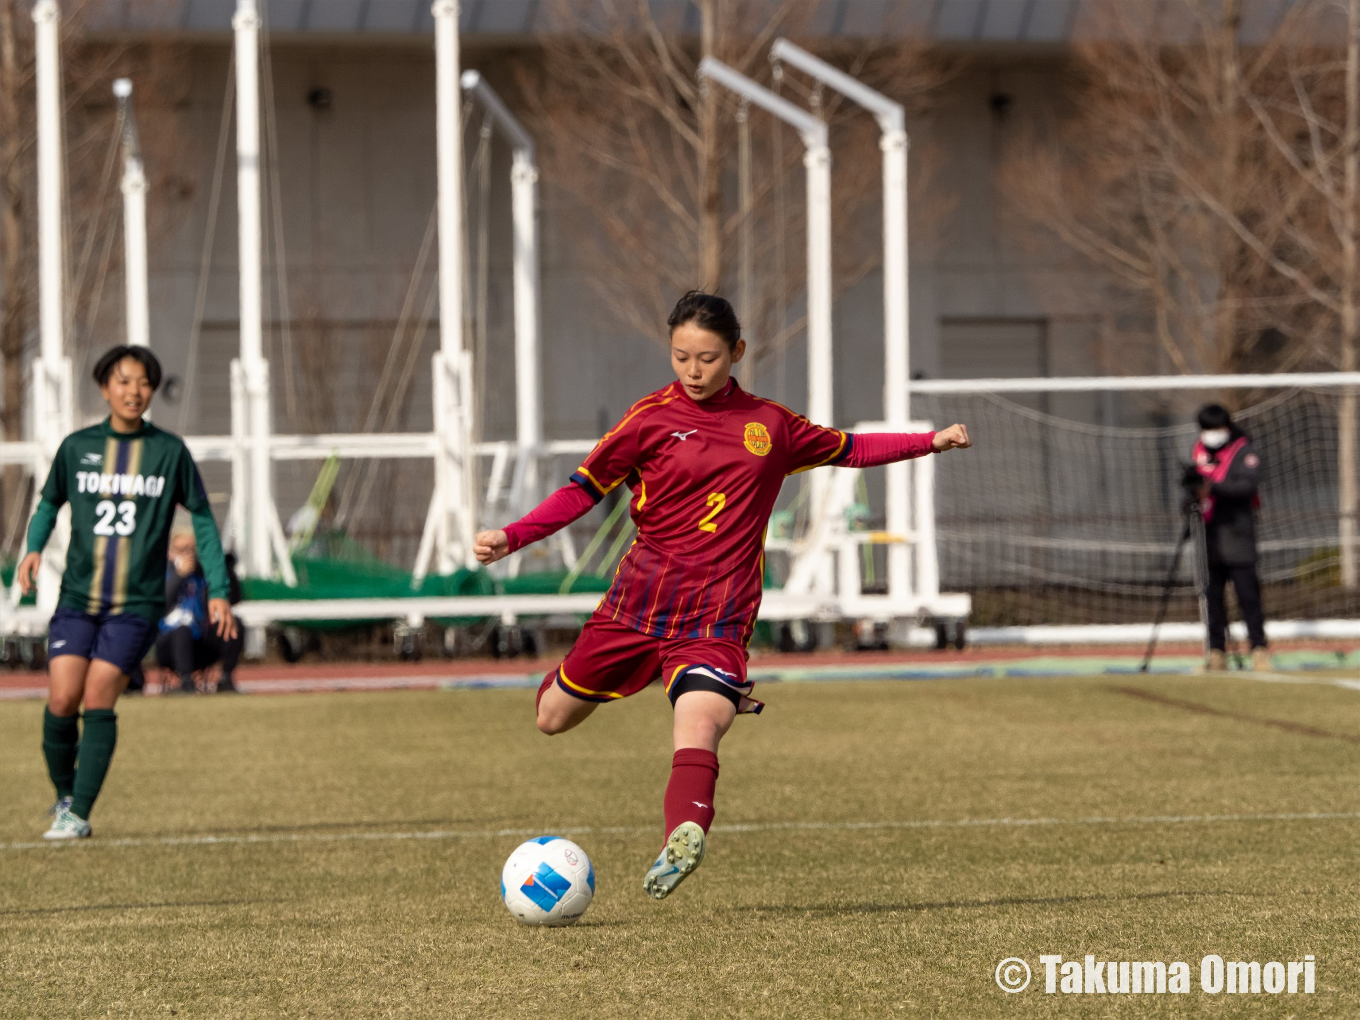
[[[853,443],[736,381],[702,403],[679,382],[643,397],[571,476],[596,502],[632,490],[638,537],[600,612],[658,638],[745,643],[785,476],[838,464]]]

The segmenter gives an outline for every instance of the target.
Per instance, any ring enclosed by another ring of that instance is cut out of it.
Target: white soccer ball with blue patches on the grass
[[[574,925],[594,899],[594,865],[570,839],[530,839],[500,869],[500,899],[521,925]]]

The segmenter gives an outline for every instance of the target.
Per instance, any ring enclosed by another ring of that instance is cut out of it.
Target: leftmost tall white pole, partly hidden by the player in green
[[[56,0],[33,7],[34,78],[38,101],[38,324],[39,355],[33,362],[30,388],[33,438],[38,456],[33,465],[41,487],[61,439],[75,426],[75,385],[65,354],[65,295],[63,224],[63,117],[61,117],[61,11]],[[37,495],[34,496],[37,499]],[[56,609],[71,536],[68,507],[57,517],[49,552],[38,573],[38,605]]]

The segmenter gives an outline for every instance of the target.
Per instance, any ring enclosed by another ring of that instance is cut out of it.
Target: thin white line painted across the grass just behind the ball
[[[913,828],[1030,828],[1039,826],[1194,826],[1220,821],[1360,821],[1360,811],[1352,812],[1300,812],[1291,815],[1134,815],[1104,816],[1085,819],[921,819],[914,821],[738,821],[714,826],[713,832],[779,832],[779,831],[824,831],[853,832],[866,830],[913,830]],[[551,830],[556,835],[630,835],[651,832],[656,826],[577,826]],[[445,839],[503,839],[506,836],[539,836],[541,828],[496,828],[496,830],[428,830],[424,832],[257,832],[239,836],[136,836],[126,839],[71,839],[34,840],[29,843],[0,843],[4,850],[39,850],[68,846],[87,847],[136,847],[136,846],[239,846],[252,843],[350,843],[350,842],[398,842],[445,840]]]

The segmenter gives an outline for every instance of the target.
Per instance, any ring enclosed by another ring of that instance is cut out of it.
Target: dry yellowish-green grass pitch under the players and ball
[[[532,691],[129,699],[95,838],[61,847],[33,845],[41,704],[0,703],[0,1016],[1360,1015],[1360,692],[762,696],[724,744],[709,857],[664,903],[641,888],[670,760],[656,690],[552,738]],[[573,831],[594,904],[520,928],[500,864]],[[1193,990],[1050,996],[1040,953],[1186,960]],[[1206,953],[1314,953],[1316,994],[1205,994]],[[1035,971],[1020,994],[993,978],[1008,956]]]

